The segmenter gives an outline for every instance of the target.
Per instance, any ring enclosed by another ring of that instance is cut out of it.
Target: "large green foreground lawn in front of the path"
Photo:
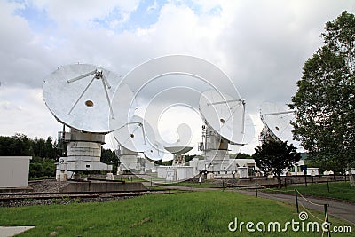
[[[152,194],[122,201],[0,208],[0,225],[36,225],[20,236],[319,236],[321,233],[229,232],[238,218],[247,223],[299,221],[295,207],[232,192]],[[312,212],[319,218],[320,213]],[[315,221],[312,219],[307,221]],[[330,217],[332,225],[349,225]],[[305,222],[306,223],[306,222]],[[352,230],[354,230],[352,226]],[[341,233],[332,236],[353,236]]]

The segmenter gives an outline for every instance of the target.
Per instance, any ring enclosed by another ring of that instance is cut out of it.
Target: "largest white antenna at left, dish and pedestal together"
[[[57,179],[66,180],[72,171],[106,170],[112,166],[99,162],[105,135],[121,127],[133,96],[112,72],[89,64],[58,67],[43,80],[43,99],[52,115],[71,130],[63,130],[60,142],[67,144],[67,154],[59,158]],[[117,87],[117,88],[116,88]],[[116,90],[116,91],[114,91]],[[114,92],[120,101],[112,101]],[[121,109],[114,111],[112,103]]]

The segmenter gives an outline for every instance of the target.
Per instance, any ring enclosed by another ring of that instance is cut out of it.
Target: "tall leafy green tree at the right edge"
[[[324,45],[304,63],[295,110],[294,135],[312,159],[355,163],[355,16],[327,21]],[[351,177],[351,186],[354,186]]]

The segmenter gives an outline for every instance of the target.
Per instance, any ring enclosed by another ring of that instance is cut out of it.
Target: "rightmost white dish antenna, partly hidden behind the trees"
[[[264,123],[262,137],[288,141],[299,147],[299,142],[293,139],[292,122],[295,119],[292,110],[286,110],[274,103],[265,102],[260,107],[260,117]]]

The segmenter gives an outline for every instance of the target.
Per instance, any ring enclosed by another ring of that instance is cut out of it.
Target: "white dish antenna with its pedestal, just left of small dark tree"
[[[211,173],[231,171],[229,144],[242,146],[254,137],[245,101],[222,91],[205,91],[201,94],[199,107],[206,124],[202,126],[199,145],[206,159],[205,169]]]

